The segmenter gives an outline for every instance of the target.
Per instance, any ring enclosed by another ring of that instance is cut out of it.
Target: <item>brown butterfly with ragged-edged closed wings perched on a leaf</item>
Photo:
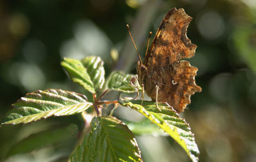
[[[168,103],[177,112],[182,112],[191,103],[192,94],[202,91],[195,84],[198,69],[182,61],[195,55],[196,45],[186,36],[191,20],[182,8],[168,11],[144,62],[137,64],[138,80],[148,96]]]

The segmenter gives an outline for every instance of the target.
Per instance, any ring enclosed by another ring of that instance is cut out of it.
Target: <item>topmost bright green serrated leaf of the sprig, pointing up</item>
[[[82,85],[84,89],[93,94],[102,89],[105,71],[100,57],[85,57],[81,61],[64,58],[61,66],[67,70],[72,81]]]

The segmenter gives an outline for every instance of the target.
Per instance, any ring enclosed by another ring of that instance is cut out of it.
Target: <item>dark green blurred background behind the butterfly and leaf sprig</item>
[[[100,55],[107,75],[112,70],[135,74],[138,55],[125,25],[130,24],[144,55],[148,32],[156,33],[173,7],[193,17],[188,38],[198,48],[189,62],[198,67],[196,84],[202,92],[192,96],[182,117],[195,133],[200,161],[256,161],[255,0],[0,1],[0,118],[26,92],[58,88],[84,93],[61,68],[63,57]],[[140,120],[122,110],[117,115]],[[79,115],[3,126],[0,161],[38,146],[6,161],[67,161],[81,128]],[[43,134],[48,143],[40,143]],[[31,138],[35,141],[26,143]],[[137,139],[144,161],[189,161],[170,137]]]

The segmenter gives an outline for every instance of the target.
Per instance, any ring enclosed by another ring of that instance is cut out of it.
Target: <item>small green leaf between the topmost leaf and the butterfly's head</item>
[[[107,81],[108,89],[122,92],[138,92],[141,90],[140,84],[135,75],[113,71]]]

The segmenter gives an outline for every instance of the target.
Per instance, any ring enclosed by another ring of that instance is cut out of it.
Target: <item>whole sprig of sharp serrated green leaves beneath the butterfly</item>
[[[61,89],[31,92],[13,104],[14,109],[2,124],[26,124],[51,116],[83,115],[88,108],[94,108],[94,111],[87,112],[87,115],[93,118],[90,122],[91,130],[87,129],[83,131],[87,133],[79,136],[81,144],[78,144],[70,155],[70,161],[142,161],[132,131],[119,119],[101,114],[102,108],[106,108],[106,105],[122,105],[147,117],[152,125],[172,136],[192,161],[198,161],[199,151],[194,135],[186,121],[172,107],[159,103],[157,108],[155,102],[143,101],[142,104],[141,100],[127,98],[113,101],[102,99],[109,91],[141,91],[136,76],[115,71],[105,82],[103,61],[100,57],[91,56],[82,60],[65,58],[61,65],[67,70],[73,82],[92,93],[93,101],[88,101],[83,94]],[[159,133],[159,130],[150,131],[151,134],[155,132]],[[31,141],[35,139],[38,138],[31,138]],[[24,143],[28,141],[27,139]],[[41,146],[37,144],[33,148]],[[12,154],[15,154],[15,151]]]

